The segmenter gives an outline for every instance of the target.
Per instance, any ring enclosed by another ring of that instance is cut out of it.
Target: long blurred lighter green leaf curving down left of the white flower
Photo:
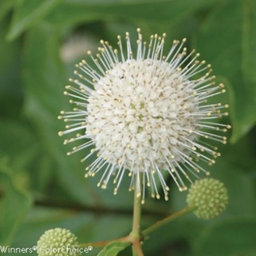
[[[27,36],[24,54],[23,81],[26,93],[26,114],[33,118],[42,142],[59,163],[62,185],[80,202],[93,202],[90,187],[79,171],[74,158],[66,156],[57,133],[61,129],[57,116],[62,103],[64,74],[59,60],[58,30],[47,24],[31,29]]]

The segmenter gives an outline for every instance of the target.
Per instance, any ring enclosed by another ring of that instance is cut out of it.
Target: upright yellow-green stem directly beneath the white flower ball
[[[140,175],[140,174],[137,174]],[[140,218],[141,218],[141,195],[137,191],[137,186],[134,188],[134,199],[133,199],[133,223],[132,232],[130,234],[132,241],[132,252],[133,256],[143,256],[143,252],[140,247]]]

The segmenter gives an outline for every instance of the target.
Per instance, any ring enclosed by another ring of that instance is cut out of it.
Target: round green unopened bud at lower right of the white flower
[[[222,182],[212,178],[197,180],[189,188],[187,203],[195,206],[194,213],[198,218],[216,218],[228,204],[227,188]]]

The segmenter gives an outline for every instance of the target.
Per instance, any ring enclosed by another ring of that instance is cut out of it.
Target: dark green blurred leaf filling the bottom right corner
[[[256,255],[255,218],[229,218],[207,228],[198,238],[198,256]]]

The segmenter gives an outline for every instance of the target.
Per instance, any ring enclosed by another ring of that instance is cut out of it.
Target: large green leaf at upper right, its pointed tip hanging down
[[[196,37],[197,50],[234,87],[232,142],[246,134],[256,116],[256,7],[252,0],[228,1],[211,13]]]

